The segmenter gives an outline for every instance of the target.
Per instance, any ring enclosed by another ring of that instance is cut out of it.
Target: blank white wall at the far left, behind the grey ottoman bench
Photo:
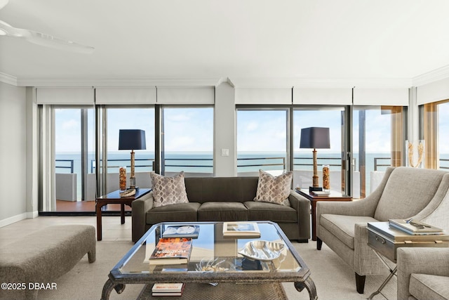
[[[0,227],[27,218],[26,91],[0,82]]]

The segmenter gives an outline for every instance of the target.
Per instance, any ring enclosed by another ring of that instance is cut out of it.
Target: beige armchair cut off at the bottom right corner
[[[423,221],[449,232],[449,192]],[[397,250],[398,300],[449,299],[449,248]]]

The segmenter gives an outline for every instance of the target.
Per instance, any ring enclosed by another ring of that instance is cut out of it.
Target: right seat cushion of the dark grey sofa
[[[243,204],[248,208],[248,220],[297,222],[297,211],[292,207],[257,201],[248,201]]]

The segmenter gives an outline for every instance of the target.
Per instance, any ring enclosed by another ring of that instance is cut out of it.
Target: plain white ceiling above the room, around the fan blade
[[[10,0],[0,20],[95,51],[0,36],[0,73],[18,85],[409,84],[449,66],[448,15],[448,0]]]

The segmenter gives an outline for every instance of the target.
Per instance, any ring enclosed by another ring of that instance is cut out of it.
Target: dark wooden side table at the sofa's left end
[[[103,195],[95,199],[95,213],[97,214],[97,240],[102,240],[102,223],[101,223],[101,208],[107,204],[120,204],[120,219],[121,223],[125,223],[125,205],[133,206],[133,201],[149,193],[151,188],[139,188],[135,191],[135,195],[130,197],[120,197],[120,191],[107,195]]]

